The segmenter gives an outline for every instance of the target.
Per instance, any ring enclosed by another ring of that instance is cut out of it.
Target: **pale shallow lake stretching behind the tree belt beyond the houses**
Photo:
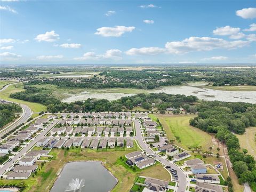
[[[204,99],[207,101],[231,101],[231,102],[249,102],[256,103],[256,91],[223,91],[223,90],[213,90],[206,89],[202,86],[205,83],[188,83],[188,85],[184,86],[165,86],[161,89],[157,90],[147,90],[148,93],[168,93],[168,94],[185,94],[185,95],[195,95],[199,99]],[[88,98],[94,99],[107,99],[107,100],[116,100],[122,97],[132,96],[135,94],[124,94],[118,93],[108,93],[106,90],[105,93],[90,93],[90,92],[82,92],[77,95],[70,95],[69,98],[63,100],[63,102],[74,102],[74,101],[82,101]],[[141,92],[145,92],[145,90],[141,90]],[[101,91],[103,92],[103,91]]]

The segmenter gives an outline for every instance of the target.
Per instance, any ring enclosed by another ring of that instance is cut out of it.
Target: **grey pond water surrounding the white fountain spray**
[[[72,179],[83,180],[82,192],[107,192],[117,183],[116,178],[100,162],[67,163],[54,183],[51,192],[63,192],[68,189]]]

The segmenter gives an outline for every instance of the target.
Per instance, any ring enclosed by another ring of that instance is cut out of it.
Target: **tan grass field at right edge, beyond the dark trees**
[[[255,141],[256,127],[248,127],[243,135],[236,134],[239,139],[241,148],[247,149],[248,154],[256,158],[256,141]]]

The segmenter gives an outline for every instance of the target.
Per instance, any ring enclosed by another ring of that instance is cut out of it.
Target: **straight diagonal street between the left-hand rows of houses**
[[[24,155],[25,153],[27,153],[27,151],[33,147],[37,141],[43,139],[44,135],[46,135],[47,132],[49,132],[52,127],[54,125],[56,125],[59,122],[59,120],[55,120],[52,124],[50,124],[49,126],[46,127],[45,130],[43,130],[41,133],[39,133],[39,135],[37,135],[35,138],[33,138],[33,140],[24,148],[22,148],[19,153],[17,155],[15,155],[15,157],[12,158],[11,162],[7,162],[1,169],[0,169],[0,175],[2,175],[7,169],[9,169],[9,167],[15,162],[17,161],[20,157],[22,157],[22,155]]]

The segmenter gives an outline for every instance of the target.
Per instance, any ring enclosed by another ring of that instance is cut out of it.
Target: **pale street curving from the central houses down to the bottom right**
[[[135,139],[138,141],[140,147],[145,150],[148,154],[154,153],[153,150],[150,149],[150,147],[148,147],[146,145],[146,143],[144,142],[142,135],[141,135],[141,130],[140,130],[140,123],[138,120],[134,121],[134,125],[135,125],[135,130],[136,130],[136,136]],[[186,175],[183,173],[183,171],[175,164],[167,161],[166,159],[164,159],[162,156],[159,156],[157,154],[155,154],[156,157],[155,159],[157,159],[159,162],[161,162],[163,165],[165,166],[170,166],[172,169],[177,170],[177,174],[179,176],[179,184],[178,184],[178,190],[177,192],[184,192],[186,191]]]

